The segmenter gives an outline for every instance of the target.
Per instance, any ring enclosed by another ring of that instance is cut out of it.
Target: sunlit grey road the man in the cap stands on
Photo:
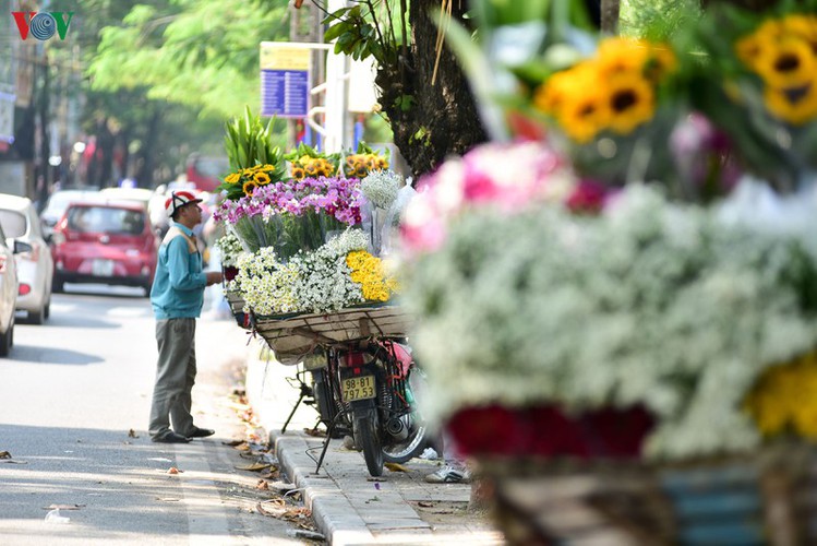
[[[0,359],[0,544],[302,544],[255,512],[268,494],[221,443],[244,437],[227,397],[244,337],[199,321],[194,415],[218,432],[177,447],[145,431],[156,346],[141,289],[69,285],[45,325],[19,323]],[[52,505],[80,508],[56,523]]]

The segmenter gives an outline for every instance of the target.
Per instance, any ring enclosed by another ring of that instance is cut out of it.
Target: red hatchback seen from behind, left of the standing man
[[[101,283],[143,286],[149,296],[158,245],[144,206],[72,203],[51,237],[53,292],[65,283]]]

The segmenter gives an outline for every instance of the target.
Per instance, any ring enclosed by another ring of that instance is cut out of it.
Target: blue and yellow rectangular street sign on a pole
[[[261,43],[261,115],[305,118],[311,49],[292,41]]]

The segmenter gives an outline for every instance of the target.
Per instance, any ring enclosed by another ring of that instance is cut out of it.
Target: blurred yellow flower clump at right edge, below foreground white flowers
[[[764,436],[817,439],[817,359],[808,354],[766,371],[744,401]]]

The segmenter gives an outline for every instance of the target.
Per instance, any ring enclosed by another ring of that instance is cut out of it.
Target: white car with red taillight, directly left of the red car
[[[26,311],[29,322],[41,324],[51,312],[53,260],[39,215],[28,198],[0,194],[0,226],[9,247],[13,248],[14,240],[31,246],[31,251],[14,254],[19,283],[16,309]]]

